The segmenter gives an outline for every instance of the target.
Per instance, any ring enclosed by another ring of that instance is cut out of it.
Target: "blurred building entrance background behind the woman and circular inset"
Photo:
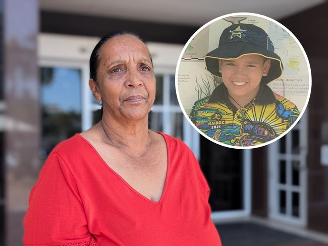
[[[175,92],[188,39],[208,21],[235,12],[286,26],[312,72],[298,125],[253,150],[200,137]],[[100,37],[114,31],[134,32],[147,43],[157,79],[149,127],[182,139],[196,154],[223,245],[328,245],[326,13],[326,0],[0,0],[0,245],[22,245],[29,192],[54,145],[99,119],[88,59]]]

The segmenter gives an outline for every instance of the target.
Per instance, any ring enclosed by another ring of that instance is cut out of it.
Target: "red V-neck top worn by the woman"
[[[158,202],[134,190],[81,135],[59,144],[31,191],[24,245],[221,245],[195,156],[161,135],[168,171]]]

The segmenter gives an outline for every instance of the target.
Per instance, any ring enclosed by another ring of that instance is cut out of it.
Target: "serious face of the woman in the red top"
[[[108,40],[100,48],[95,98],[103,115],[117,120],[146,117],[155,100],[155,76],[146,45],[131,35]]]

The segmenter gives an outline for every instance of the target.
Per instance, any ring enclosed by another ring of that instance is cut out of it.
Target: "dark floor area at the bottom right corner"
[[[255,222],[217,224],[223,246],[328,246]]]

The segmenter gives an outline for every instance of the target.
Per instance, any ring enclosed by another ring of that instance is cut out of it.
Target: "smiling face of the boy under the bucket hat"
[[[270,59],[264,61],[261,55],[248,54],[237,59],[220,59],[218,66],[229,95],[250,101],[257,95],[262,76],[270,69]]]

